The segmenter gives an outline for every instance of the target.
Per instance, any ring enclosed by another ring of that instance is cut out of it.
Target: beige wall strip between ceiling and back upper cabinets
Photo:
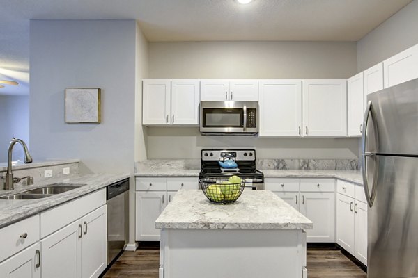
[[[150,78],[348,78],[355,42],[150,42]]]

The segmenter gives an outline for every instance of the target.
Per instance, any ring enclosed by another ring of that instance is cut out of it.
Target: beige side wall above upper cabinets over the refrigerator
[[[358,72],[418,44],[418,0],[389,17],[357,42]]]

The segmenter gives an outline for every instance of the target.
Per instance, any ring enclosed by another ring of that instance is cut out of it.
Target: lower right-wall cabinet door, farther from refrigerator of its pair
[[[336,243],[353,254],[354,252],[354,199],[336,195]]]

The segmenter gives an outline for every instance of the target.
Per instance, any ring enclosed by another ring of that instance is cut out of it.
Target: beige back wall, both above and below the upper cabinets
[[[348,78],[355,42],[150,42],[150,78]],[[175,146],[175,147],[173,147]],[[148,158],[199,158],[208,147],[256,147],[258,158],[357,158],[355,138],[201,136],[197,128],[148,128]]]

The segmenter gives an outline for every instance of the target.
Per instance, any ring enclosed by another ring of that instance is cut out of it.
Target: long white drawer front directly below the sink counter
[[[82,218],[103,204],[106,204],[106,188],[40,213],[41,238]]]

